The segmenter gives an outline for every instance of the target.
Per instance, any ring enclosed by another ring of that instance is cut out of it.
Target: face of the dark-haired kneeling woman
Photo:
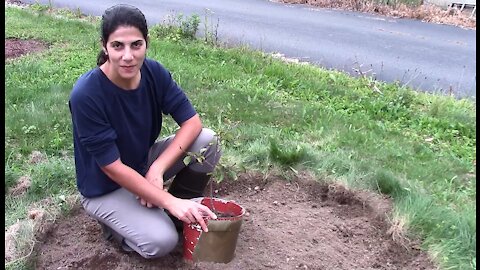
[[[128,84],[138,75],[147,50],[142,32],[133,26],[119,26],[106,43],[108,73],[120,84]]]

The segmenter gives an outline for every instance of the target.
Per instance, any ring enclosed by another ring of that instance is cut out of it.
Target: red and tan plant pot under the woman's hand
[[[198,223],[183,224],[183,257],[187,261],[229,263],[235,256],[245,209],[234,201],[205,197],[201,204],[217,212],[216,220],[205,219],[208,232]],[[223,217],[225,215],[225,217]]]

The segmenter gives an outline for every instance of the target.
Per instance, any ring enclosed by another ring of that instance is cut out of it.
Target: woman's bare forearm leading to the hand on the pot
[[[120,186],[158,207],[169,209],[175,200],[170,193],[149,183],[142,175],[123,164],[120,159],[103,167],[102,170]]]

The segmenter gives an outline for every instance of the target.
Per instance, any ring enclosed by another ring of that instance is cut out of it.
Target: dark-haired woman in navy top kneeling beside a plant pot
[[[175,222],[216,216],[190,198],[200,197],[220,158],[213,131],[168,70],[146,58],[144,14],[129,5],[105,11],[97,67],[75,83],[69,107],[77,187],[86,212],[125,250],[145,258],[169,253],[178,242]],[[179,125],[156,142],[162,115]],[[205,161],[184,164],[187,152]],[[163,181],[174,177],[170,189]]]

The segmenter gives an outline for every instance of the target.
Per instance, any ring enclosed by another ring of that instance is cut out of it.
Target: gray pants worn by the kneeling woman
[[[174,135],[156,142],[151,147],[148,166],[165,150],[173,137]],[[203,154],[205,161],[198,163],[192,159],[188,166],[197,172],[212,172],[221,153],[216,135],[210,129],[202,129],[187,151],[200,152],[202,148],[207,148]],[[165,172],[165,181],[185,168],[183,159],[184,156]],[[136,195],[124,188],[100,197],[83,197],[81,203],[91,217],[114,230],[126,245],[144,258],[166,255],[177,245],[178,233],[167,213],[162,208],[142,206]]]

